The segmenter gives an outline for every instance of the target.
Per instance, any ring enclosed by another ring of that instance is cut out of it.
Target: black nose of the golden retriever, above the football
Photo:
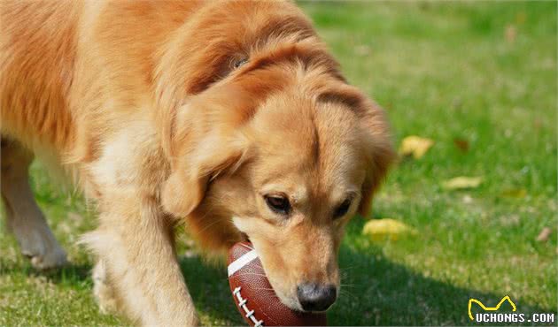
[[[300,305],[305,311],[324,311],[337,299],[335,285],[303,283],[297,287]]]

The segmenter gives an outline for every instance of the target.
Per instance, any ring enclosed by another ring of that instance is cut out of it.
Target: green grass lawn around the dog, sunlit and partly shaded
[[[397,144],[408,135],[435,141],[421,159],[400,161],[365,217],[399,219],[418,235],[372,243],[361,234],[365,219],[353,219],[340,258],[345,286],[329,323],[474,324],[470,297],[494,306],[505,295],[518,312],[556,313],[556,4],[301,6],[348,79],[387,110]],[[484,182],[465,191],[442,187],[461,175]],[[94,213],[40,164],[33,185],[74,264],[37,273],[3,231],[0,325],[125,324],[98,313],[92,258],[74,244],[94,228]],[[541,242],[544,227],[552,234]],[[226,270],[202,266],[189,247],[183,237],[182,268],[202,322],[243,324]]]

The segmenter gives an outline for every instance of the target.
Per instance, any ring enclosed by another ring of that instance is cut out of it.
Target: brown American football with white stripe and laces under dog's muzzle
[[[250,242],[229,250],[229,285],[236,308],[250,326],[325,326],[325,313],[298,312],[285,306],[267,280]]]

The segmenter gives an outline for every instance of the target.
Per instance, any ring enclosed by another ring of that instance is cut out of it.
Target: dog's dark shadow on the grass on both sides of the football
[[[244,325],[229,292],[226,269],[202,259],[183,258],[182,271],[198,310],[212,317],[208,323]],[[478,325],[469,320],[469,298],[496,305],[504,293],[482,293],[422,276],[383,255],[342,247],[342,292],[329,310],[330,325]],[[512,299],[517,313],[548,312]],[[510,312],[504,304],[499,312]],[[473,315],[480,308],[473,308]],[[491,325],[497,323],[490,323]],[[509,324],[509,323],[506,323]]]

